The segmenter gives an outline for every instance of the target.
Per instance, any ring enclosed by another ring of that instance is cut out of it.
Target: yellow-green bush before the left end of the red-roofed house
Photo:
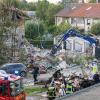
[[[60,25],[57,26],[56,34],[62,34],[64,31],[67,31],[71,28],[71,25],[66,22],[62,22]]]

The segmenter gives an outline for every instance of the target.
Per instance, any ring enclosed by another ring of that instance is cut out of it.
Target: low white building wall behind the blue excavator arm
[[[54,44],[57,43],[57,40],[59,40],[58,38],[59,37],[54,38],[54,42],[55,42]],[[89,47],[90,47],[89,42],[79,37],[69,37],[66,40],[66,49],[71,52],[86,53],[86,50],[88,50]],[[64,50],[65,50],[64,43],[62,42],[60,51],[64,51]],[[95,47],[93,47],[91,52],[93,52],[93,55],[95,54]]]

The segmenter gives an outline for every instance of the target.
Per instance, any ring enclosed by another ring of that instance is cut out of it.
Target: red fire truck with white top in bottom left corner
[[[12,74],[0,74],[0,100],[25,100],[22,78]]]

